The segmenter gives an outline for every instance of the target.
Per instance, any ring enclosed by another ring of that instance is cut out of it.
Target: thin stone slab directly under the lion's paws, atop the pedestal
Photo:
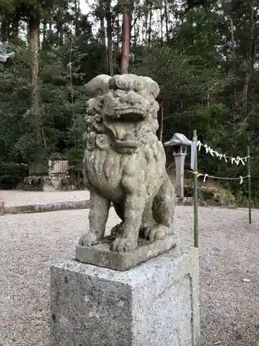
[[[115,237],[109,235],[95,246],[85,247],[77,245],[75,248],[75,260],[116,271],[126,271],[126,269],[133,268],[137,264],[156,257],[160,253],[169,251],[176,246],[175,237],[169,235],[155,242],[139,239],[135,250],[128,253],[115,253],[110,251],[110,246],[114,239]]]

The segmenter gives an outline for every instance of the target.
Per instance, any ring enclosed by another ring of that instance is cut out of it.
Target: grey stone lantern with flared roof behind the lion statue
[[[180,198],[184,197],[184,160],[188,145],[191,145],[191,140],[186,138],[184,134],[174,134],[171,140],[164,143],[165,147],[173,147],[176,196]]]

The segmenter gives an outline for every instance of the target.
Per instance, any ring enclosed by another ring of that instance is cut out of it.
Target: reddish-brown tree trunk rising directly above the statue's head
[[[129,55],[130,55],[130,16],[128,8],[123,8],[123,24],[122,24],[122,63],[121,74],[128,73]]]

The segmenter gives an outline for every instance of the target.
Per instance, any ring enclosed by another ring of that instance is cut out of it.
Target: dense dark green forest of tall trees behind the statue
[[[228,156],[247,156],[249,145],[259,201],[258,1],[0,0],[0,24],[16,53],[0,75],[0,183],[14,163],[46,158],[68,158],[81,172],[84,85],[128,71],[160,84],[161,140],[197,129]],[[247,175],[204,152],[199,171]],[[246,184],[225,185],[246,197]]]

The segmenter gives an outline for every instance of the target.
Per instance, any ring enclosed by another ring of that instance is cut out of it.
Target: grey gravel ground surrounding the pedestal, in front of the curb
[[[180,243],[192,244],[193,208],[176,215]],[[0,218],[1,346],[48,346],[50,261],[73,257],[87,219],[88,210]],[[259,210],[247,219],[247,210],[199,210],[200,346],[259,345]],[[115,222],[112,209],[108,228]]]

